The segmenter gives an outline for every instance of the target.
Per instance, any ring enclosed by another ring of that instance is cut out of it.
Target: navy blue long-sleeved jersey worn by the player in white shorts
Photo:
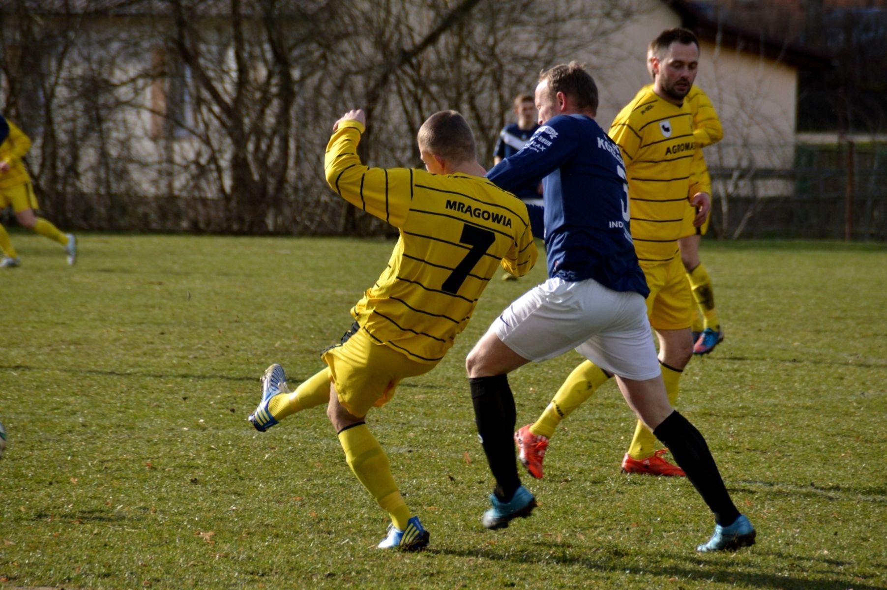
[[[549,277],[649,294],[629,228],[622,155],[592,118],[553,117],[487,177],[511,192],[544,177],[545,208],[528,209],[533,235],[545,236]]]

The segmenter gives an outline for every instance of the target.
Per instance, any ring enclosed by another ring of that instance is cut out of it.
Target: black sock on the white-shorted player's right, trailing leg
[[[733,524],[739,517],[739,510],[730,500],[718,465],[699,430],[676,410],[656,427],[653,434],[668,447],[696,492],[709,505],[715,522],[722,526]]]

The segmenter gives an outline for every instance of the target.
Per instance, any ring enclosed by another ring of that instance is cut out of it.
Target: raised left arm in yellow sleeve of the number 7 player
[[[360,109],[350,110],[335,122],[324,157],[326,183],[355,207],[400,227],[410,210],[404,195],[410,194],[412,170],[365,166],[357,155],[365,129],[365,114]]]

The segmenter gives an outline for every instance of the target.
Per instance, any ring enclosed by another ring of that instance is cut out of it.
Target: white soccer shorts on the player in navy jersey
[[[644,298],[593,279],[548,279],[509,305],[490,330],[535,362],[575,349],[625,379],[644,381],[661,374]]]

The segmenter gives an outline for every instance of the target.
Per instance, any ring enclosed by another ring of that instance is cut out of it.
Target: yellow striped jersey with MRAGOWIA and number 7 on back
[[[344,121],[326,146],[330,187],[400,230],[388,267],[351,310],[374,342],[436,363],[471,319],[501,265],[522,276],[536,264],[526,205],[483,177],[367,168],[364,126]]]

